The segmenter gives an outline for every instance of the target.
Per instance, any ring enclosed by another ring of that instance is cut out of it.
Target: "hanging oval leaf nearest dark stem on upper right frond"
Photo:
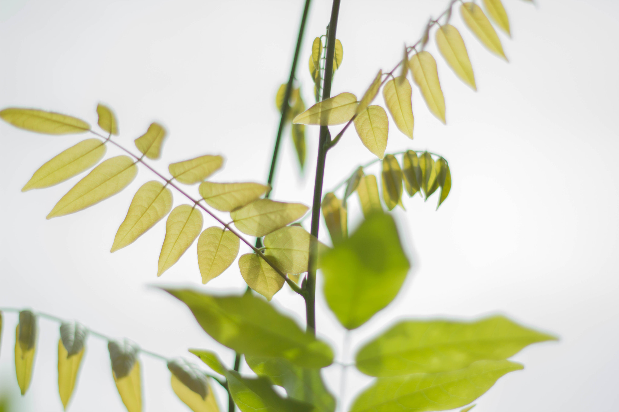
[[[389,133],[389,119],[385,109],[376,105],[369,106],[355,117],[355,130],[363,146],[383,159]]]

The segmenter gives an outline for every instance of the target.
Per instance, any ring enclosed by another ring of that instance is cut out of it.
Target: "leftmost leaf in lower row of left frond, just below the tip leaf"
[[[98,139],[82,140],[57,154],[32,175],[22,191],[57,185],[95,166],[105,155],[105,143]]]

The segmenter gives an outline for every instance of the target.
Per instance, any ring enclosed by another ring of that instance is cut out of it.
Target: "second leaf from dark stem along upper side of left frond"
[[[308,211],[301,203],[276,202],[259,199],[230,212],[236,229],[246,235],[261,237],[290,224]]]

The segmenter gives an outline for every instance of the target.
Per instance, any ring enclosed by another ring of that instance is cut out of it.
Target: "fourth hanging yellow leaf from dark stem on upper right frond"
[[[436,46],[457,77],[473,90],[477,90],[469,53],[466,51],[464,40],[458,29],[451,24],[441,26],[436,30]]]

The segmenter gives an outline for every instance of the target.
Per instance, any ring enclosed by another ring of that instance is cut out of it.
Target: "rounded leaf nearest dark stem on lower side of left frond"
[[[257,254],[243,254],[238,267],[245,283],[269,301],[284,286],[285,279]]]

